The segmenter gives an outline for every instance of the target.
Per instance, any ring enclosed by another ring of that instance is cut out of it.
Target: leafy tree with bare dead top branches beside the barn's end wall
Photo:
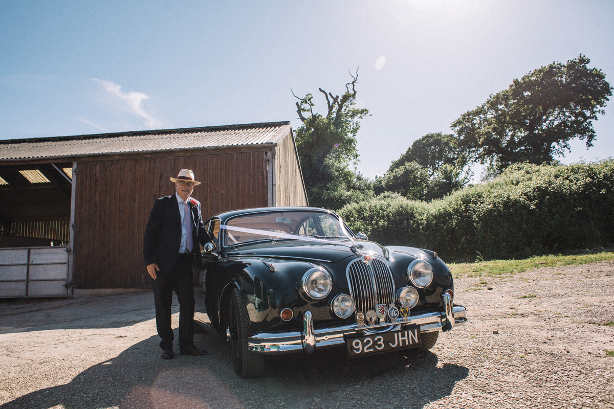
[[[319,88],[327,102],[327,113],[314,112],[313,95],[298,98],[297,113],[303,125],[295,133],[298,156],[305,179],[309,204],[341,208],[344,204],[369,196],[371,185],[349,169],[358,160],[356,134],[368,110],[354,107],[358,71],[340,96]],[[294,95],[294,94],[293,94]],[[305,115],[307,114],[307,115]]]

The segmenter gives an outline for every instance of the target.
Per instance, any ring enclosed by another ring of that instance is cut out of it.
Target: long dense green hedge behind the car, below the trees
[[[614,161],[512,166],[430,203],[384,194],[341,208],[356,232],[445,258],[520,258],[614,243]]]

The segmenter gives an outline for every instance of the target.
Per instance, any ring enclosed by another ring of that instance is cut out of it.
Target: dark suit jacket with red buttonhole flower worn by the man
[[[190,212],[192,212],[192,234],[194,247],[192,254],[200,258],[200,247],[197,243],[210,242],[209,235],[204,229],[203,218],[200,213],[200,202],[192,197]],[[149,213],[149,221],[143,239],[143,258],[146,266],[153,262],[158,263],[160,273],[170,273],[177,262],[181,245],[181,215],[175,194],[160,197],[153,202]]]

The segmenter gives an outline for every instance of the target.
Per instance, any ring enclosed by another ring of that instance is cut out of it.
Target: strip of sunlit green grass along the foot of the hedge
[[[591,262],[614,260],[614,253],[604,251],[594,254],[574,254],[570,256],[534,256],[522,260],[492,260],[481,262],[450,263],[448,267],[454,277],[504,277],[540,267],[572,266]]]

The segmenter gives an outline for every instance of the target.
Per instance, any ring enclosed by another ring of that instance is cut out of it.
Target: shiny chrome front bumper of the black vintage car
[[[454,326],[462,325],[467,322],[467,308],[462,305],[446,305],[445,312],[430,312],[408,316],[406,319],[397,319],[394,323],[376,324],[371,326],[359,327],[354,323],[351,325],[314,329],[313,316],[311,312],[303,315],[303,331],[301,332],[278,332],[260,333],[247,338],[249,350],[259,354],[283,354],[305,352],[311,354],[318,348],[341,345],[345,343],[345,335],[369,334],[371,330],[394,327],[400,329],[406,326],[419,325],[420,332],[448,331]],[[454,324],[446,316],[454,316]]]

